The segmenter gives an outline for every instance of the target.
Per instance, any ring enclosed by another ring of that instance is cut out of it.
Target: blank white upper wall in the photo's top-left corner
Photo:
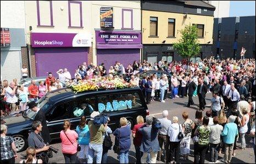
[[[24,1],[1,1],[1,27],[25,28]]]

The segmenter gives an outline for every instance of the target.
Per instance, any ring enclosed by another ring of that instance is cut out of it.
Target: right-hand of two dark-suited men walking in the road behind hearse
[[[197,95],[199,98],[199,109],[205,109],[205,95],[207,93],[207,86],[204,84],[203,79],[198,79],[199,85],[197,86]]]

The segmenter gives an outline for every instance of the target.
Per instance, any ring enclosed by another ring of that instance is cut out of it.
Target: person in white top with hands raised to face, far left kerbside
[[[14,113],[16,110],[16,103],[18,98],[15,95],[16,89],[18,86],[15,86],[14,82],[10,82],[10,85],[5,89],[6,102],[9,104],[10,114]]]

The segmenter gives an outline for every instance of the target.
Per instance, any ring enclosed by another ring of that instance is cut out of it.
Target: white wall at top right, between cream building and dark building
[[[214,17],[229,17],[230,1],[209,1],[215,6]]]

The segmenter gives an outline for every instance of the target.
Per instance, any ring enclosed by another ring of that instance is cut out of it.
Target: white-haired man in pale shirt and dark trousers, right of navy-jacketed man
[[[164,161],[168,161],[169,160],[169,138],[167,136],[167,131],[169,126],[171,125],[171,120],[168,120],[168,110],[164,110],[163,113],[163,118],[159,119],[159,121],[161,122],[161,126],[162,128],[159,130],[158,133],[158,142],[159,142],[159,146],[160,146],[160,151],[158,151],[157,154],[157,160],[160,161],[161,160],[161,156],[162,156],[162,147],[164,144],[164,150],[165,150],[165,159]]]

